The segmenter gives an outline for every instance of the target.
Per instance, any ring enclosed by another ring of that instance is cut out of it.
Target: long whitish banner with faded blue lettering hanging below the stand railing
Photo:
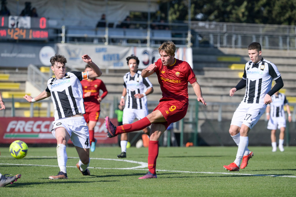
[[[81,58],[83,54],[88,54],[101,69],[128,69],[126,58],[131,54],[139,58],[139,69],[146,68],[160,58],[157,48],[147,47],[57,44],[57,51],[67,58],[67,67],[72,69],[85,68]],[[192,48],[177,48],[175,57],[193,66]]]

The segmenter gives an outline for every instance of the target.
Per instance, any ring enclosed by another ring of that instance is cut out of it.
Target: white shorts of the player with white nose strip
[[[137,118],[138,120],[144,118],[148,115],[148,109],[123,109],[122,123],[123,124],[131,124],[133,120]]]

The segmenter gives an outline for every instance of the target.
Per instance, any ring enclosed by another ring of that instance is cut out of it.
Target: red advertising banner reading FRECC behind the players
[[[10,144],[15,140],[22,140],[27,144],[56,144],[52,135],[54,118],[1,118],[0,144]],[[117,119],[111,121],[117,124]],[[117,144],[118,138],[107,138],[107,128],[104,118],[99,118],[94,129],[94,136],[99,144]],[[72,142],[69,140],[69,144]]]

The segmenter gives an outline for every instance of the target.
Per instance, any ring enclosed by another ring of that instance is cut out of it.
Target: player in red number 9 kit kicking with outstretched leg
[[[207,105],[202,98],[202,91],[193,70],[186,61],[175,58],[175,51],[176,45],[173,42],[164,42],[158,48],[160,59],[142,70],[142,77],[150,76],[153,73],[157,74],[160,89],[163,92],[163,97],[152,113],[139,121],[118,127],[110,122],[108,116],[105,118],[108,137],[114,137],[120,133],[140,131],[151,125],[148,147],[149,172],[139,179],[157,178],[155,170],[158,156],[158,139],[170,123],[177,122],[186,115],[188,108],[188,82],[192,85],[197,100]]]

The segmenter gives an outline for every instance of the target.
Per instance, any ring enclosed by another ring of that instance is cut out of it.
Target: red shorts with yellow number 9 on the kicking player
[[[165,129],[167,129],[171,123],[177,122],[185,117],[187,108],[187,103],[177,100],[168,100],[161,101],[153,111],[160,110],[166,122],[158,124],[163,124]]]

